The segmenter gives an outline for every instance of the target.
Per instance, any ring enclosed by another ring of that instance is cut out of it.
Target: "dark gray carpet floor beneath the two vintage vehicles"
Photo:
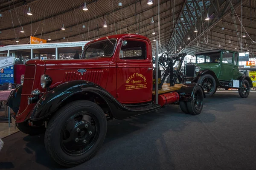
[[[0,169],[50,170],[58,166],[44,136],[21,132],[3,139]],[[200,115],[176,105],[108,122],[102,148],[70,170],[256,170],[256,93],[216,93]]]

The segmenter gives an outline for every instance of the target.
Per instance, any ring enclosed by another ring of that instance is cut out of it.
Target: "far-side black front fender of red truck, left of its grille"
[[[19,85],[15,88],[7,99],[6,105],[12,108],[14,113],[18,113],[20,108],[20,99],[23,85]]]

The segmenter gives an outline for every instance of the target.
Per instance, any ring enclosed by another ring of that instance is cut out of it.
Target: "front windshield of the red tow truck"
[[[93,42],[85,46],[81,59],[111,57],[116,47],[116,39]]]

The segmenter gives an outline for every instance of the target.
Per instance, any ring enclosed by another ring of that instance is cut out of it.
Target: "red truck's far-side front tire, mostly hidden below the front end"
[[[31,127],[27,122],[17,123],[17,128],[30,136],[40,135],[45,133],[46,128],[44,126]]]

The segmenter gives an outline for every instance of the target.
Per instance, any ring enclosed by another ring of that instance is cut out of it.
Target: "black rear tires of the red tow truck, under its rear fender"
[[[186,102],[187,108],[190,114],[198,115],[201,113],[204,106],[203,99],[204,99],[204,91],[200,86],[197,86],[195,88],[195,91],[193,92],[193,101]]]

